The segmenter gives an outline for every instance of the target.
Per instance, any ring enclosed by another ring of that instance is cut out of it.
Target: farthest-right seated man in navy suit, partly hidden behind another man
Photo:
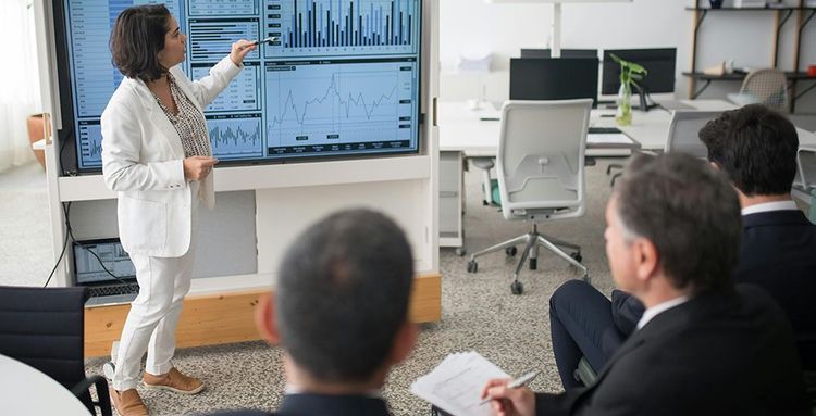
[[[816,370],[816,225],[791,199],[796,175],[796,129],[763,105],[722,113],[700,130],[708,161],[725,172],[742,206],[743,237],[737,282],[770,292],[793,326],[803,367]],[[636,298],[613,291],[611,302],[582,281],[549,300],[553,351],[565,389],[581,356],[599,370],[643,313]]]

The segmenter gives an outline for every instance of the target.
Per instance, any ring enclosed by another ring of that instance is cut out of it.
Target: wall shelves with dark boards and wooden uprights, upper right
[[[807,93],[809,90],[814,89],[816,87],[816,83],[808,86],[802,91],[796,91],[796,85],[801,80],[816,80],[816,77],[808,76],[807,73],[799,71],[800,66],[800,56],[802,53],[802,31],[804,30],[805,26],[813,20],[814,15],[816,15],[816,8],[806,8],[804,7],[804,0],[800,0],[798,7],[783,7],[783,8],[720,8],[720,9],[710,9],[710,8],[704,8],[701,7],[701,2],[703,0],[696,0],[694,7],[685,8],[685,10],[691,11],[694,13],[694,30],[692,34],[692,49],[691,49],[691,70],[689,72],[682,73],[684,76],[691,78],[691,83],[689,83],[689,97],[692,99],[695,99],[700,97],[700,94],[705,91],[706,88],[713,83],[713,81],[742,81],[747,74],[745,73],[732,73],[732,74],[724,74],[724,75],[708,75],[704,74],[703,72],[700,72],[697,70],[697,39],[698,39],[698,33],[700,27],[703,24],[703,21],[705,21],[705,17],[708,15],[708,13],[730,13],[730,12],[742,12],[742,13],[764,13],[764,12],[776,12],[775,15],[775,26],[776,30],[774,31],[774,50],[772,50],[772,67],[779,67],[779,42],[780,42],[780,34],[782,30],[782,27],[795,15],[796,21],[796,31],[795,31],[795,39],[794,39],[794,53],[793,53],[793,70],[794,71],[788,71],[786,72],[786,77],[788,78],[788,88],[790,90],[790,112],[793,113],[796,108],[796,100]],[[697,88],[697,81],[704,81],[702,87]]]

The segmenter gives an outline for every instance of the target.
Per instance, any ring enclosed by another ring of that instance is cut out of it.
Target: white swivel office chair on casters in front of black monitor
[[[517,253],[524,244],[512,274],[510,291],[523,292],[518,280],[530,259],[537,268],[539,248],[544,247],[583,272],[581,248],[540,234],[537,222],[574,218],[584,213],[584,150],[592,100],[507,101],[502,109],[502,127],[496,156],[499,202],[505,219],[532,223],[529,232],[473,253],[468,272],[477,273],[477,257],[505,250]],[[568,254],[564,249],[570,251]]]

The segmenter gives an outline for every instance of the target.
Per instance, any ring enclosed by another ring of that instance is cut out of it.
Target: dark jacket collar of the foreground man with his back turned
[[[213,416],[390,416],[382,399],[361,395],[286,394],[276,413],[235,411]]]

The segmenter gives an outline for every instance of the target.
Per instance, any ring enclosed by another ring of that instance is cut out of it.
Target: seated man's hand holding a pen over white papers
[[[534,416],[535,394],[526,387],[539,371],[528,373],[516,380],[493,379],[482,388],[482,404],[491,402],[497,416]]]

